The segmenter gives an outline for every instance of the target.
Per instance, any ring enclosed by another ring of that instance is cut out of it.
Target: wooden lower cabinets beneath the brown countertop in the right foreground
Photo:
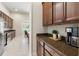
[[[55,50],[50,48],[45,42],[40,40],[41,38],[38,38],[37,40],[37,55],[38,56],[60,56]]]

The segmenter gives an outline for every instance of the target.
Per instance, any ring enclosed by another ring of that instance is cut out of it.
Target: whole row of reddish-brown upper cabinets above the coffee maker
[[[79,2],[44,2],[43,24],[56,25],[79,22]]]

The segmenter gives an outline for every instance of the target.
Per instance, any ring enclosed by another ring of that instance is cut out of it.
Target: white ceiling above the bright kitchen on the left
[[[10,12],[19,12],[19,13],[29,13],[31,9],[30,2],[2,2],[2,4],[10,11]],[[15,10],[18,11],[15,11]]]

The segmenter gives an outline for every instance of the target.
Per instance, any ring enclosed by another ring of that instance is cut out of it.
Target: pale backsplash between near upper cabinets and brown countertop
[[[66,36],[66,32],[65,32],[66,27],[77,27],[77,26],[79,27],[79,23],[48,26],[47,32],[52,34],[52,30],[57,30],[60,35]]]

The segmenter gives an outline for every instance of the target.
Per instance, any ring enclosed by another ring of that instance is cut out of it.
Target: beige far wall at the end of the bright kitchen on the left
[[[13,21],[13,29],[16,30],[16,36],[24,35],[22,30],[22,23],[29,21],[29,14],[11,13]]]

